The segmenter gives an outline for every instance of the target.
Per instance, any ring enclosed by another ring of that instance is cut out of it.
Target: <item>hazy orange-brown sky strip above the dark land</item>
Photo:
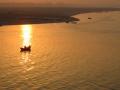
[[[24,5],[47,5],[47,6],[77,6],[77,7],[120,7],[120,1],[119,0],[70,0],[70,1],[64,1],[64,0],[4,0],[0,1],[0,6],[6,6],[6,5],[13,5],[13,3],[16,4],[24,4]],[[14,5],[15,6],[15,5]]]

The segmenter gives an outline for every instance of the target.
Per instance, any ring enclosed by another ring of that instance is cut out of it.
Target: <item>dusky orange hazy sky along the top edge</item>
[[[120,0],[0,0],[0,3],[37,3],[37,4],[63,4],[78,6],[120,7]]]

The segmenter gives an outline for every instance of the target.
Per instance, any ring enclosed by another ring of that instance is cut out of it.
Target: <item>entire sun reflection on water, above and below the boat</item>
[[[32,25],[21,25],[22,34],[22,46],[31,46],[32,39]],[[30,71],[34,68],[34,62],[31,60],[30,52],[21,53],[20,65],[23,68],[23,72]]]

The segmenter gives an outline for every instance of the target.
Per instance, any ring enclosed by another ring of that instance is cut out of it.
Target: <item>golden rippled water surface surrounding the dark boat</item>
[[[0,90],[120,90],[120,12],[76,17],[0,27]]]

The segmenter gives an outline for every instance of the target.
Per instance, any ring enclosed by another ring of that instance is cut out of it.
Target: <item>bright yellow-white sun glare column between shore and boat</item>
[[[32,26],[31,25],[22,25],[22,38],[23,38],[23,46],[31,45],[32,38]]]

